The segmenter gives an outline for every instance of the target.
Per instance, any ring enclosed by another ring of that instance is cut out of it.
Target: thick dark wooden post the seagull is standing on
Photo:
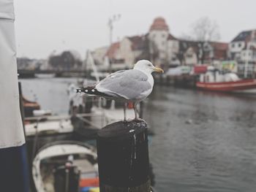
[[[98,132],[100,192],[150,192],[148,132],[143,120],[112,123]]]

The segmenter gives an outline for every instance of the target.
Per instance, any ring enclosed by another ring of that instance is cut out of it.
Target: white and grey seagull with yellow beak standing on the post
[[[127,102],[132,102],[135,120],[140,120],[136,104],[146,99],[151,93],[154,86],[152,72],[163,73],[164,71],[148,60],[140,60],[133,69],[114,72],[94,86],[77,89],[77,93],[124,101],[124,121],[127,121]]]

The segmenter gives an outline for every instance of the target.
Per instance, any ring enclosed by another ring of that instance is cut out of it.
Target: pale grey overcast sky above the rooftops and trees
[[[18,56],[47,58],[53,50],[78,50],[84,57],[109,43],[108,18],[114,23],[113,41],[146,34],[162,16],[175,37],[191,32],[202,17],[215,20],[221,41],[256,28],[255,0],[15,0]]]

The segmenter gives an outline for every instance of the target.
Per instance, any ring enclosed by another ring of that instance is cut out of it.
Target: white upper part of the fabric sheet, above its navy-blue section
[[[13,0],[0,0],[0,148],[25,142],[20,116]]]

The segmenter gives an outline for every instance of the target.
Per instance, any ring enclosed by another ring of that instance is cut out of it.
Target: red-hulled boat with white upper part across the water
[[[240,79],[233,72],[221,72],[212,66],[208,66],[205,74],[200,74],[196,86],[205,91],[256,93],[255,79]]]

